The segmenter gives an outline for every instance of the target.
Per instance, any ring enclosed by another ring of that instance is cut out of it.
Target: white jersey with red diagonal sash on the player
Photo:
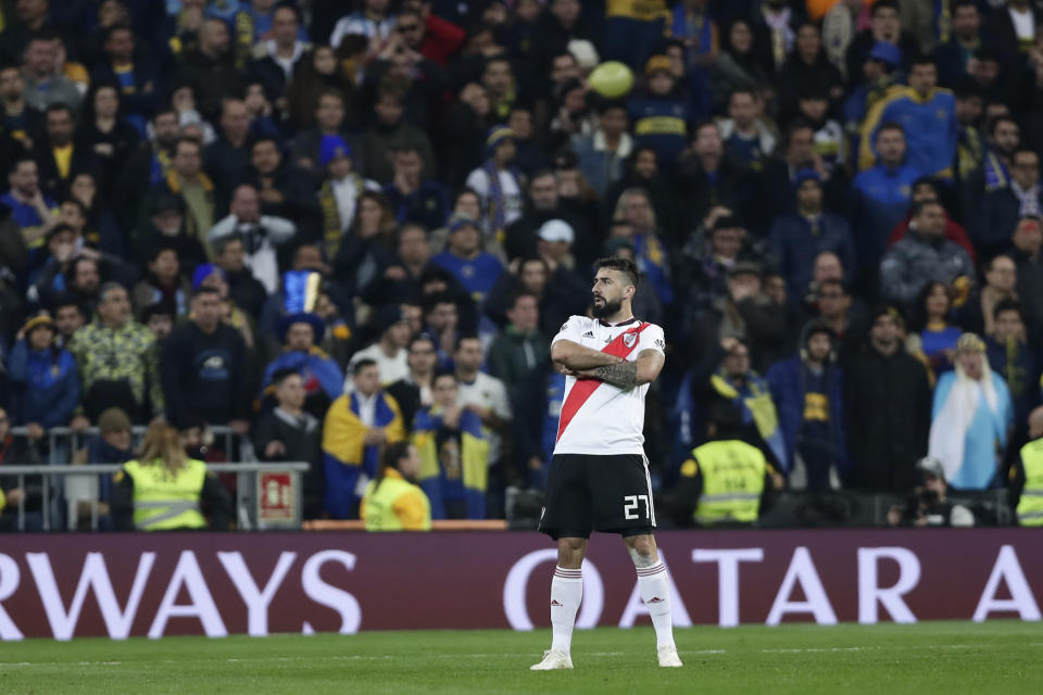
[[[662,353],[663,329],[636,318],[615,326],[571,316],[554,337],[634,362],[644,350]],[[649,384],[621,390],[595,379],[565,380],[555,454],[644,454],[644,395]]]

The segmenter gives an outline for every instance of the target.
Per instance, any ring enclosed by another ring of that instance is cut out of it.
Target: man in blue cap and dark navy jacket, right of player
[[[792,298],[801,298],[812,282],[815,256],[832,251],[844,265],[844,275],[855,275],[855,247],[851,229],[840,215],[822,212],[821,178],[815,169],[801,169],[794,181],[796,212],[783,213],[771,223],[768,243],[786,277]]]

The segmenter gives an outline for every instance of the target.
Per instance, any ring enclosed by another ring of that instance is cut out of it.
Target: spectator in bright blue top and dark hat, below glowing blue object
[[[276,372],[291,369],[302,380],[304,409],[322,416],[344,390],[344,375],[337,362],[318,348],[326,334],[326,324],[315,314],[298,312],[280,318],[278,328],[282,354],[265,367],[261,391],[267,391]]]

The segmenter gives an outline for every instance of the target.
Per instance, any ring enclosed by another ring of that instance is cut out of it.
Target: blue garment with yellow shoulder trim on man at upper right
[[[877,128],[893,121],[905,130],[909,166],[926,176],[952,176],[959,139],[953,92],[934,89],[927,99],[920,99],[912,88],[897,89],[882,106],[875,108],[867,117],[863,135],[868,137],[862,142],[863,153],[867,144],[876,142]]]

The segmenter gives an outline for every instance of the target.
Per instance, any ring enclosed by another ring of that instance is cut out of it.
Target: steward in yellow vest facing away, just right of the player
[[[731,404],[716,404],[706,425],[708,441],[681,466],[675,494],[678,522],[689,526],[751,526],[765,494],[783,485],[756,446],[743,437],[742,416]]]

